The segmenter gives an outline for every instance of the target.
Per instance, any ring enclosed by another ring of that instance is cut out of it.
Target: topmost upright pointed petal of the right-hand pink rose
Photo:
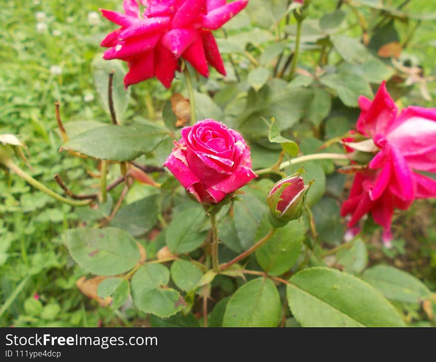
[[[367,108],[368,103],[365,99],[361,100],[364,106],[359,120],[357,121],[357,130],[365,135],[375,136],[376,134],[385,134],[388,126],[395,120],[398,108],[390,97],[386,89],[386,82],[382,82],[371,106]]]

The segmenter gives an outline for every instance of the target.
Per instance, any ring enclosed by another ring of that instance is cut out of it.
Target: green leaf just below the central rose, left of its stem
[[[166,244],[173,253],[195,250],[206,239],[207,232],[200,232],[205,221],[201,207],[193,207],[176,215],[166,229]]]

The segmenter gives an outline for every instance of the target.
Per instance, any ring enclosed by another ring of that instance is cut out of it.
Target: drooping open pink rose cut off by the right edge
[[[436,197],[436,181],[421,172],[436,172],[436,109],[398,108],[382,83],[373,101],[360,97],[357,131],[371,137],[379,151],[364,172],[357,173],[342,216],[351,214],[353,227],[371,212],[382,226],[383,241],[390,232],[394,208],[406,210],[415,199]]]

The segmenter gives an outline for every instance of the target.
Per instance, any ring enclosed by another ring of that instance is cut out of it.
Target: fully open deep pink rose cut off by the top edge
[[[248,0],[139,0],[146,6],[141,16],[136,0],[124,0],[124,14],[102,9],[103,16],[121,26],[109,33],[101,46],[104,59],[127,61],[124,85],[156,76],[169,88],[178,59],[187,60],[209,76],[208,63],[225,75],[224,64],[211,30],[219,29],[241,11]]]

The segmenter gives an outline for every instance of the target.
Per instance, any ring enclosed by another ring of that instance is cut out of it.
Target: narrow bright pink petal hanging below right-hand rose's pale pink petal
[[[403,200],[413,200],[415,198],[416,183],[412,171],[396,146],[391,145],[390,154],[393,176],[389,189],[395,196]]]

